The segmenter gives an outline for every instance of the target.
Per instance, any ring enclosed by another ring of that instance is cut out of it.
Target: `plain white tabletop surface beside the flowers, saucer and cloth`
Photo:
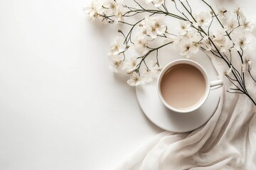
[[[114,26],[85,4],[0,1],[0,169],[113,169],[162,131],[110,72]]]

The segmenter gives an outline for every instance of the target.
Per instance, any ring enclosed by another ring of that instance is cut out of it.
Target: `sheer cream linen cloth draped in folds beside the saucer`
[[[254,45],[252,45],[254,44]],[[251,43],[252,72],[256,70],[256,43]],[[228,69],[210,57],[219,75]],[[117,166],[116,170],[256,169],[256,107],[242,94],[226,92],[232,84],[223,77],[223,93],[214,115],[192,132],[161,132]],[[247,89],[256,98],[255,83]]]

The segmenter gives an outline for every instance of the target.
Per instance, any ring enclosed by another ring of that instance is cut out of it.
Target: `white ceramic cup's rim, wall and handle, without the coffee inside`
[[[196,67],[203,74],[203,77],[206,81],[206,91],[205,91],[203,98],[201,98],[201,100],[198,101],[198,103],[196,103],[196,105],[193,105],[189,108],[183,108],[183,109],[175,108],[174,106],[169,105],[169,103],[167,103],[164,100],[164,97],[161,94],[161,80],[162,80],[164,74],[169,69],[171,69],[171,67],[174,67],[176,64],[191,64],[193,67]],[[196,109],[200,108],[203,105],[203,103],[206,102],[206,100],[210,94],[210,90],[218,89],[222,85],[223,85],[222,80],[210,81],[206,70],[203,69],[203,67],[200,64],[198,64],[197,62],[194,62],[193,60],[187,60],[187,59],[175,60],[174,62],[170,62],[169,64],[166,65],[166,67],[164,67],[164,69],[161,70],[161,72],[159,74],[159,78],[157,79],[157,91],[159,94],[159,98],[164,103],[164,106],[169,108],[171,111],[175,111],[177,113],[189,113],[189,112],[195,111]]]

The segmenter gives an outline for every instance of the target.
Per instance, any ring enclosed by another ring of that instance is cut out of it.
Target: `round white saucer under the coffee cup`
[[[176,59],[177,58],[173,58],[172,60],[166,61],[164,65]],[[218,79],[218,73],[213,67],[210,58],[206,55],[201,55],[191,60],[198,62],[206,69],[210,81]],[[191,113],[176,113],[170,111],[161,103],[156,89],[156,81],[137,86],[136,93],[139,105],[152,123],[159,128],[171,132],[188,132],[204,125],[212,117],[213,113],[215,113],[222,91],[222,88],[210,91],[207,101],[196,111]]]

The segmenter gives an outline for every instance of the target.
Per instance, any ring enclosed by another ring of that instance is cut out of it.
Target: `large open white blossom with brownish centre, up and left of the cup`
[[[166,31],[164,17],[151,16],[144,19],[146,34],[151,38],[156,38],[157,35],[163,35]]]

